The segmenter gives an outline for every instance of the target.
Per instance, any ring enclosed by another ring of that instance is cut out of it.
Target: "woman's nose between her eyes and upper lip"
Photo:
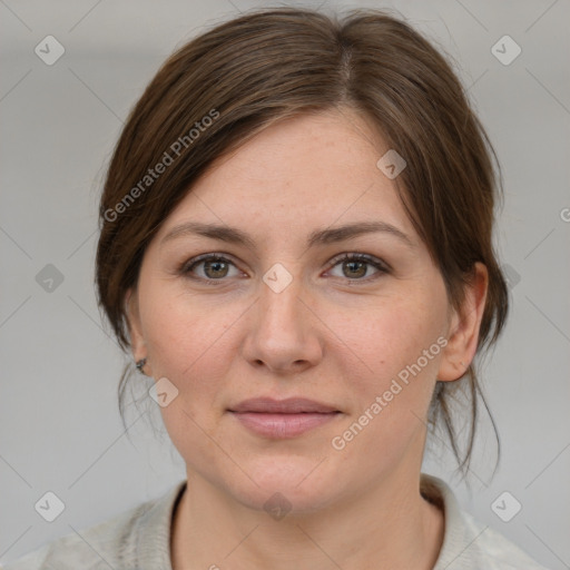
[[[281,292],[262,282],[259,289],[248,312],[243,356],[252,366],[282,375],[315,366],[323,357],[322,336],[302,279],[294,277]]]

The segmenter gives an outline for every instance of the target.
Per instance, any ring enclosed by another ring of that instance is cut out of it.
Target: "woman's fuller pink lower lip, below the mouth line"
[[[324,425],[338,415],[331,413],[266,414],[259,412],[232,412],[248,430],[273,439],[301,435]]]

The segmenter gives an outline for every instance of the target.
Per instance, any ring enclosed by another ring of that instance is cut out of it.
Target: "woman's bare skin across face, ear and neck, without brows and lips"
[[[452,311],[394,181],[376,167],[389,148],[367,125],[344,109],[269,127],[208,169],[145,253],[127,296],[129,328],[145,372],[178,390],[160,409],[188,476],[173,525],[175,570],[435,563],[444,521],[420,494],[425,420],[436,379],[456,380],[475,353],[487,271],[478,264]],[[253,248],[198,235],[163,242],[190,220],[238,228]],[[410,244],[376,232],[307,246],[314,230],[379,220]],[[179,271],[207,253],[232,264],[198,264],[195,279]],[[390,269],[335,261],[343,253]],[[276,263],[292,277],[281,293],[263,281]],[[446,346],[334,449],[332,439],[439,337]],[[228,412],[256,396],[303,396],[341,413],[296,438],[268,439]],[[291,505],[281,520],[264,510],[275,492]]]

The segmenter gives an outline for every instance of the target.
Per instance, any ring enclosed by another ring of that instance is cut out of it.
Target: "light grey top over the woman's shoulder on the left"
[[[138,570],[141,566],[169,569],[171,513],[185,487],[183,481],[157,499],[61,537],[0,569]]]

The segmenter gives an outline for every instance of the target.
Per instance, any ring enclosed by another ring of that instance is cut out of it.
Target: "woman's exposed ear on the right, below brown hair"
[[[469,368],[476,352],[488,286],[487,267],[475,263],[473,276],[465,285],[463,303],[451,314],[448,344],[440,361],[438,380],[452,382]]]

